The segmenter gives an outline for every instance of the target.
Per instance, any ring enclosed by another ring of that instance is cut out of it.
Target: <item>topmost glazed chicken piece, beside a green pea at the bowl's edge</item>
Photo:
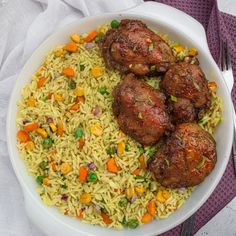
[[[121,20],[100,42],[108,67],[136,75],[163,73],[175,62],[171,48],[139,20]]]

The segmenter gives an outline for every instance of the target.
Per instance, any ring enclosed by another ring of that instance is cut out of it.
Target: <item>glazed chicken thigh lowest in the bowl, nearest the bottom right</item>
[[[200,126],[184,123],[148,161],[156,180],[166,187],[200,184],[216,163],[216,143]]]

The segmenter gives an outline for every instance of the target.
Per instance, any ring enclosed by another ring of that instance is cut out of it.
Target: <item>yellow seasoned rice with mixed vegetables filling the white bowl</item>
[[[80,220],[83,222],[119,229],[123,228],[125,221],[131,222],[133,219],[136,219],[139,225],[143,224],[141,219],[147,212],[146,207],[150,201],[156,203],[157,219],[168,217],[189,197],[192,188],[163,188],[153,180],[152,174],[147,170],[141,170],[139,176],[133,174],[135,169],[140,168],[139,157],[142,154],[140,154],[139,144],[120,132],[112,113],[111,94],[114,86],[120,81],[120,74],[105,67],[95,43],[91,49],[86,49],[85,44],[77,45],[79,49],[76,53],[64,51],[61,56],[56,56],[56,52],[63,46],[50,51],[40,71],[36,72],[31,77],[30,83],[22,89],[21,100],[18,102],[18,128],[21,130],[24,128],[23,122],[38,122],[40,128],[44,129],[53,140],[51,148],[44,148],[42,145],[44,138],[32,131],[29,136],[35,146],[31,150],[27,149],[27,143],[18,142],[20,156],[24,159],[30,175],[47,178],[48,182],[37,184],[37,191],[42,201],[48,206],[57,207],[63,214],[73,217],[81,218],[82,210],[83,217]],[[80,71],[81,64],[85,66],[83,71]],[[69,108],[75,104],[76,95],[75,89],[68,87],[70,79],[61,75],[62,69],[67,66],[75,71],[73,80],[76,82],[76,87],[79,86],[84,91],[85,103],[79,103],[80,108],[77,111],[69,111]],[[94,67],[102,69],[102,76],[95,78],[92,75],[91,71]],[[37,81],[42,76],[47,80],[44,86],[37,88]],[[157,78],[152,78],[149,84],[158,87],[158,81]],[[108,94],[102,95],[99,92],[100,88],[106,88]],[[50,95],[52,95],[51,99]],[[62,100],[57,101],[55,95],[62,96]],[[35,106],[29,106],[30,97],[31,99],[33,97]],[[212,108],[200,122],[210,133],[221,119],[222,104],[215,93],[212,104]],[[100,110],[97,116],[93,114],[95,107]],[[60,122],[63,123],[62,136],[52,132],[47,122],[48,117],[53,119],[56,126]],[[96,136],[91,133],[90,128],[94,124],[102,127],[103,135]],[[79,139],[75,137],[78,128],[83,131],[85,144],[82,149],[79,148]],[[128,144],[129,148],[120,156],[117,153],[112,154],[120,170],[118,173],[110,173],[107,170],[110,155],[106,150],[110,147],[117,149],[121,142]],[[146,147],[143,153],[145,162],[149,152],[150,147]],[[40,167],[42,161],[46,163],[43,169]],[[91,162],[96,166],[91,172],[96,173],[97,182],[80,183],[79,168],[88,169],[87,165]],[[54,170],[52,163],[55,164]],[[61,173],[62,163],[71,166],[68,174]],[[119,201],[127,197],[127,191],[131,192],[134,201],[128,199],[127,206],[120,207]],[[158,192],[163,193],[163,191],[164,197],[157,198]],[[80,197],[84,193],[91,195],[88,204],[80,202]],[[104,223],[101,209],[112,220],[110,224]],[[134,228],[132,223],[128,226]]]

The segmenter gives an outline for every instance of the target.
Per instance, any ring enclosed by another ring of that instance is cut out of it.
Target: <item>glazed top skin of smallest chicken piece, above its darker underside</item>
[[[176,63],[170,66],[161,82],[169,96],[189,99],[195,108],[209,107],[211,100],[207,80],[198,65]]]

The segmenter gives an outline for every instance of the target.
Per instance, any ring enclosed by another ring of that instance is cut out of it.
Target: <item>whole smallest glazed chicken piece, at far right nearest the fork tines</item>
[[[176,97],[177,104],[172,104],[175,123],[193,122],[197,116],[201,118],[210,106],[208,83],[198,65],[184,62],[171,65],[161,82],[161,88],[168,96]]]

